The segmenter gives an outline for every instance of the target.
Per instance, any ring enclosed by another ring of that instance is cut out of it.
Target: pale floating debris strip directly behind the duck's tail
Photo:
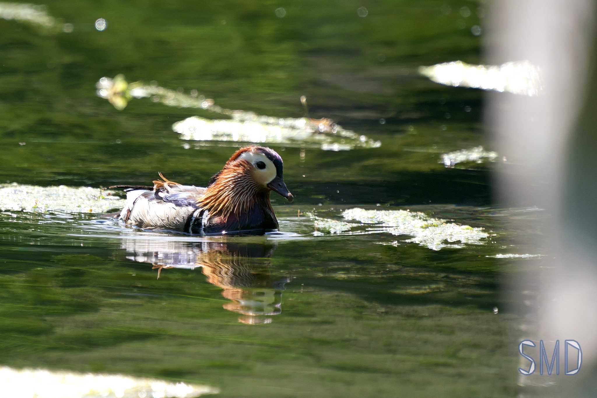
[[[1,210],[105,213],[122,206],[123,199],[99,188],[0,184]]]

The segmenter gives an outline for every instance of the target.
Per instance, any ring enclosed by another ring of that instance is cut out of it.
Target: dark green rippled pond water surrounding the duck
[[[307,149],[304,162],[300,149],[274,146],[296,198],[293,205],[276,199],[276,214],[281,229],[298,236],[205,240],[133,232],[97,215],[3,212],[1,364],[198,382],[230,397],[513,394],[515,317],[501,310],[498,286],[522,263],[485,257],[516,252],[504,227],[512,212],[492,208],[486,166],[438,163],[444,152],[490,146],[482,93],[416,73],[420,65],[480,62],[482,36],[470,27],[484,26],[481,4],[47,5],[73,24],[72,33],[0,20],[1,182],[105,187],[146,184],[161,171],[205,184],[234,148],[183,149],[171,124],[213,115],[150,100],[119,112],[94,87],[118,73],[261,115],[301,117],[298,98],[306,95],[310,116],[382,145]],[[104,32],[94,29],[100,17]],[[436,252],[376,244],[403,240],[390,235],[313,237],[312,221],[297,217],[377,203],[497,236]],[[210,279],[204,267],[164,269],[156,279],[156,261],[143,263],[139,253],[162,260],[191,253],[232,276]],[[281,313],[246,325],[223,308],[231,297],[271,298]]]

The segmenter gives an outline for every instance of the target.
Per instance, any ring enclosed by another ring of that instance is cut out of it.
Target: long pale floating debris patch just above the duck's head
[[[380,141],[345,130],[331,119],[274,118],[245,110],[225,109],[196,91],[187,95],[156,84],[128,84],[123,75],[113,79],[101,78],[96,88],[97,95],[110,101],[118,110],[124,109],[133,98],[151,98],[152,101],[167,106],[204,109],[230,118],[213,120],[192,116],[176,122],[172,128],[183,140],[273,143],[313,146],[333,151],[381,146]],[[301,101],[305,104],[303,97]]]

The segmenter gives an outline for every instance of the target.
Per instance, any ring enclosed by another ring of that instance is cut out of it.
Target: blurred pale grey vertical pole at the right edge
[[[561,366],[560,375],[549,378],[555,390],[565,390],[553,396],[595,396],[597,386],[595,13],[595,0],[496,0],[486,30],[487,63],[528,60],[541,69],[537,97],[488,94],[487,128],[509,161],[496,172],[498,199],[536,205],[545,214],[543,235],[520,242],[548,256],[527,280],[511,281],[519,291],[540,282],[533,325],[516,336],[537,343],[559,339],[561,356],[565,339],[577,340],[583,350],[578,375],[564,375]],[[516,350],[518,340],[512,345]],[[553,343],[546,349],[551,357]],[[521,385],[529,380],[517,369],[513,377]],[[534,378],[550,384],[541,380]],[[552,396],[551,388],[540,396]]]

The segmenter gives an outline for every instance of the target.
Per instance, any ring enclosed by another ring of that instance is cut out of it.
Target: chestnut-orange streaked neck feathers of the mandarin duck
[[[251,175],[251,165],[245,161],[227,163],[220,174],[198,199],[199,205],[210,212],[211,217],[227,220],[230,215],[241,218],[248,215],[255,206],[262,206],[264,212],[273,215],[266,189]]]

